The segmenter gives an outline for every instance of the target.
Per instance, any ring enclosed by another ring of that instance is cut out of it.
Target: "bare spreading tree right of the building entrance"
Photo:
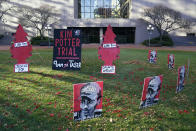
[[[180,12],[162,5],[145,9],[144,16],[148,22],[156,27],[160,35],[160,41],[166,33],[182,28],[187,29],[191,25],[189,19],[183,17]]]

